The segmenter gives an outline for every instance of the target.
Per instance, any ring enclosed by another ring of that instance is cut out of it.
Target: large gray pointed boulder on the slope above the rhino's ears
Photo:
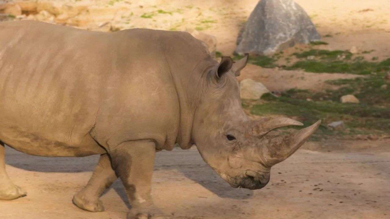
[[[293,0],[260,0],[241,29],[235,52],[268,55],[319,39],[309,16]]]

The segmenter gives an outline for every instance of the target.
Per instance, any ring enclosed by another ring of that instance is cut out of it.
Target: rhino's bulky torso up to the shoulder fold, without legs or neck
[[[0,29],[1,141],[34,155],[101,154],[89,135],[96,128],[106,141],[173,146],[179,105],[160,32],[108,34],[34,21]]]

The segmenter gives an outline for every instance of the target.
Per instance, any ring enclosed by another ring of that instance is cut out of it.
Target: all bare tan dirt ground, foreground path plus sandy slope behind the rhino
[[[258,0],[49,2],[105,8],[112,6],[110,2],[115,2],[113,7],[127,5],[131,19],[127,21],[126,16],[117,16],[119,19],[113,20],[115,25],[124,28],[184,30],[199,26],[202,20],[215,20],[207,24],[209,27],[203,32],[215,35],[217,50],[231,55],[240,24],[248,18]],[[296,2],[307,11],[322,36],[332,35],[322,39],[329,45],[316,48],[344,50],[356,46],[360,51],[374,49],[367,56],[379,60],[390,56],[389,0]],[[140,18],[157,9],[175,11],[179,8],[183,13]],[[294,48],[289,49],[284,56],[294,51]],[[356,77],[263,69],[255,65],[248,65],[241,74],[239,79],[253,78],[269,90],[318,91],[332,88],[323,83],[328,79]],[[256,191],[230,187],[202,161],[195,147],[186,151],[175,148],[157,155],[152,196],[156,205],[172,219],[389,219],[389,147],[389,140],[309,142],[273,167],[269,184]],[[7,171],[15,184],[28,191],[28,196],[0,201],[0,219],[125,218],[128,203],[119,180],[101,198],[105,212],[86,212],[71,202],[73,195],[89,180],[97,158],[34,157],[7,148]]]

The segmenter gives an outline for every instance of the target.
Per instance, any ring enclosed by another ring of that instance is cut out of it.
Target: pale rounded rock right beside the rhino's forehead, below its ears
[[[250,78],[243,79],[240,82],[240,96],[242,99],[258,100],[268,92],[269,90],[262,83]]]

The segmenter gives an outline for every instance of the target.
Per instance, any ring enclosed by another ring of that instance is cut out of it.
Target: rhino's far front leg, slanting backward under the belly
[[[107,154],[100,155],[88,184],[73,196],[73,203],[84,210],[91,212],[104,211],[103,202],[99,200],[101,193],[109,188],[117,179],[112,170],[110,158]]]

